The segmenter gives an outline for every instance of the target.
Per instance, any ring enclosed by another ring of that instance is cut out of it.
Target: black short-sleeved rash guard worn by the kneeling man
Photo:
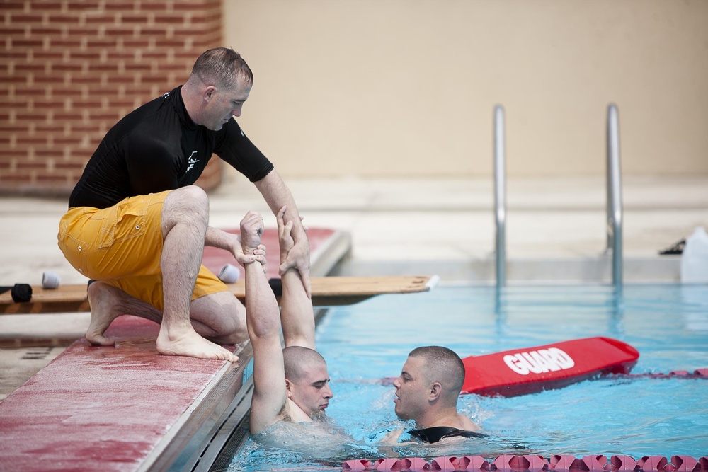
[[[251,182],[273,170],[236,120],[219,131],[195,125],[181,89],[142,105],[105,134],[69,197],[70,208],[107,208],[126,197],[191,185],[212,154]]]

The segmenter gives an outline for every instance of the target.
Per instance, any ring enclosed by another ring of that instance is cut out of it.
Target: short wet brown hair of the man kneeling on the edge
[[[253,72],[241,54],[227,47],[202,52],[192,67],[192,75],[206,84],[230,88],[241,77],[253,84]]]

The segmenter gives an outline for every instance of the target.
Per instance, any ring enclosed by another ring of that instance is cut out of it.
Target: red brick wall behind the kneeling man
[[[221,0],[0,0],[0,192],[68,195],[105,132],[221,45]],[[221,161],[198,181],[213,188]]]

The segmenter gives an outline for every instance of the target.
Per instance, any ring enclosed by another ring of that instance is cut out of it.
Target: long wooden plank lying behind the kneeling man
[[[427,292],[437,281],[428,275],[394,275],[384,277],[312,277],[312,304],[336,306],[355,304],[381,294]],[[244,301],[244,280],[228,284],[231,292]],[[62,285],[57,289],[32,287],[32,299],[15,303],[10,292],[0,294],[0,314],[72,313],[91,311],[84,284]],[[279,298],[279,297],[278,297]]]

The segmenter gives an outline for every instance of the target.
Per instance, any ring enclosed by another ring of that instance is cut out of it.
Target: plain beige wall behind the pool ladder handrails
[[[706,0],[224,0],[239,122],[290,177],[708,174]]]

